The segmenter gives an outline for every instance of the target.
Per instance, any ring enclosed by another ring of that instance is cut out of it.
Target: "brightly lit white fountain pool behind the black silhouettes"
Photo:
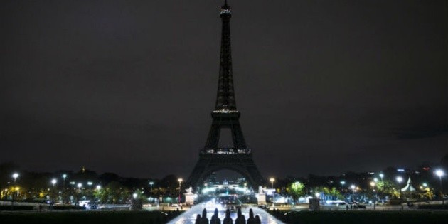
[[[171,222],[169,222],[169,224],[194,224],[194,222],[196,220],[196,216],[198,214],[202,215],[202,210],[204,208],[206,208],[206,210],[207,210],[208,220],[210,220],[211,216],[213,215],[215,208],[218,208],[218,211],[219,211],[218,216],[221,220],[221,223],[223,222],[224,217],[225,217],[225,208],[223,206],[221,206],[220,204],[215,204],[215,203],[209,201],[208,203],[201,203],[201,204],[191,207],[189,210],[187,210],[182,215],[179,215],[178,217],[174,218],[174,220],[171,220]],[[260,220],[261,220],[262,224],[267,224],[267,223],[269,223],[269,224],[284,224],[281,221],[274,218],[269,213],[267,213],[265,210],[262,210],[261,208],[257,208],[257,207],[250,207],[250,206],[243,207],[241,209],[242,215],[245,215],[246,220],[247,220],[247,218],[249,218],[249,209],[250,208],[252,208],[252,210],[254,212],[254,216],[255,215],[260,216]],[[236,211],[230,213],[230,217],[233,219],[233,222],[235,222],[235,219],[237,218]]]

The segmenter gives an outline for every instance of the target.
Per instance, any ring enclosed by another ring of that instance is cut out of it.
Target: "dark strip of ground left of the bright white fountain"
[[[0,223],[27,224],[161,224],[179,213],[134,212],[134,211],[80,211],[80,212],[45,212],[45,213],[0,213]]]

